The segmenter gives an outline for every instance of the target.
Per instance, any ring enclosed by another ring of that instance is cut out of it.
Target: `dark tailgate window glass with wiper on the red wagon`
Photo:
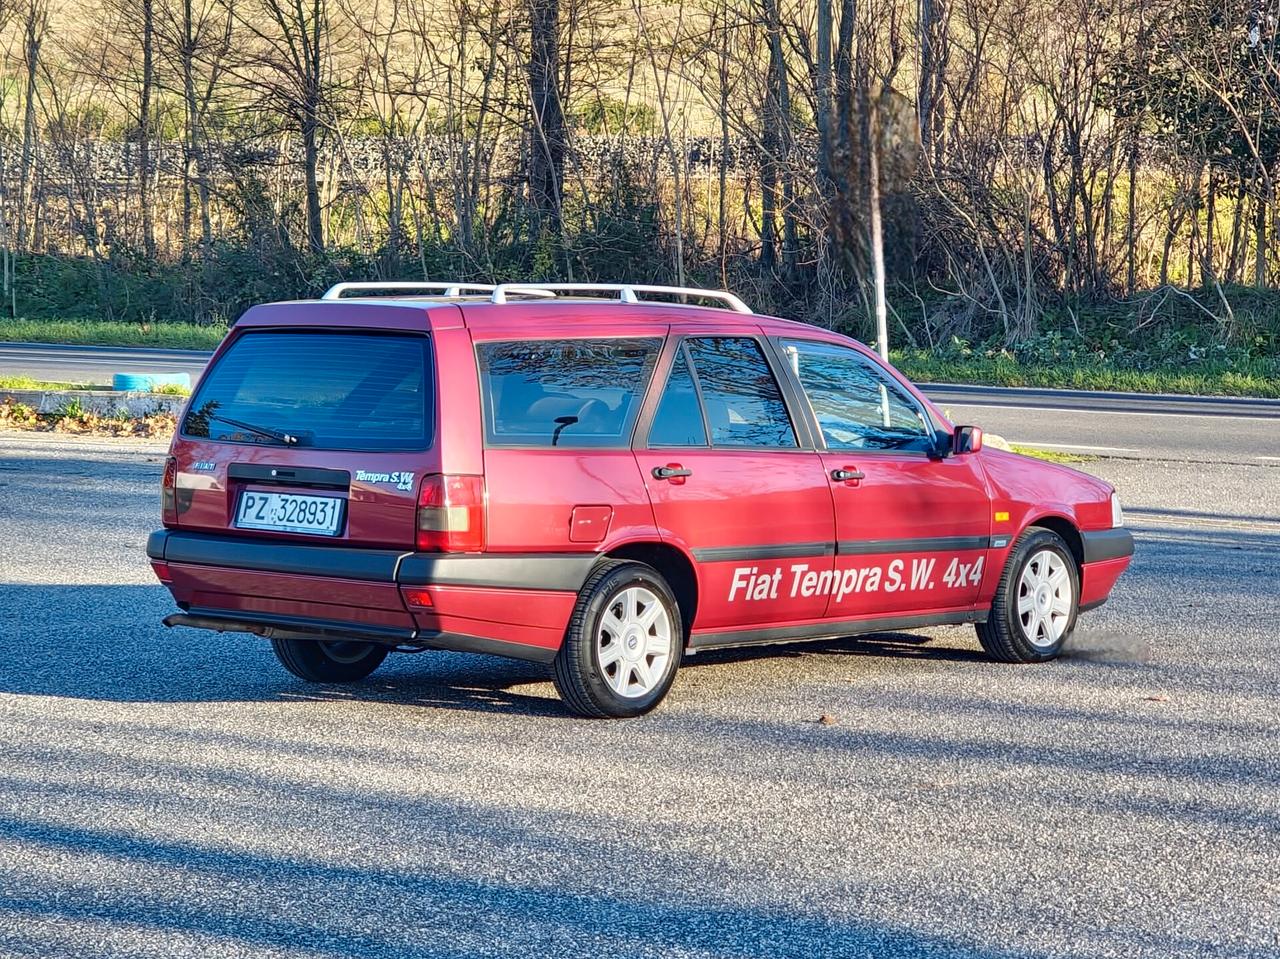
[[[433,393],[426,337],[250,332],[200,384],[183,433],[316,449],[425,449]]]

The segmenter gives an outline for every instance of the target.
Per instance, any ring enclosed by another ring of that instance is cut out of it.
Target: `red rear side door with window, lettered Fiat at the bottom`
[[[664,538],[698,563],[699,630],[820,618],[829,577],[831,489],[783,402],[763,342],[677,342],[636,461]]]

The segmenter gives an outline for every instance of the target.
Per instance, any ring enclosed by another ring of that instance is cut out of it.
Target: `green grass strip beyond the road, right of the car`
[[[895,352],[890,359],[919,383],[1280,398],[1280,362],[1275,360],[1134,370],[1103,364],[1023,364],[1005,356],[938,356],[924,351]]]

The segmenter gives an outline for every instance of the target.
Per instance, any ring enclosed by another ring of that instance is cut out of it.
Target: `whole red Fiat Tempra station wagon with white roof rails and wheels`
[[[983,448],[852,339],[643,286],[256,306],[163,513],[168,626],[266,636],[314,682],[397,649],[531,659],[598,717],[716,647],[974,624],[1051,659],[1133,554],[1110,485]]]

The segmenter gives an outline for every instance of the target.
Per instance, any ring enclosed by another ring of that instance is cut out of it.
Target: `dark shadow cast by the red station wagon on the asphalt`
[[[398,654],[349,685],[288,676],[270,645],[247,634],[165,629],[173,611],[163,586],[0,584],[0,693],[109,702],[372,702],[388,705],[572,718],[545,666],[500,657],[426,650]],[[884,633],[785,645],[701,650],[690,671],[808,657],[979,662],[950,638]],[[785,682],[780,676],[778,682]]]

